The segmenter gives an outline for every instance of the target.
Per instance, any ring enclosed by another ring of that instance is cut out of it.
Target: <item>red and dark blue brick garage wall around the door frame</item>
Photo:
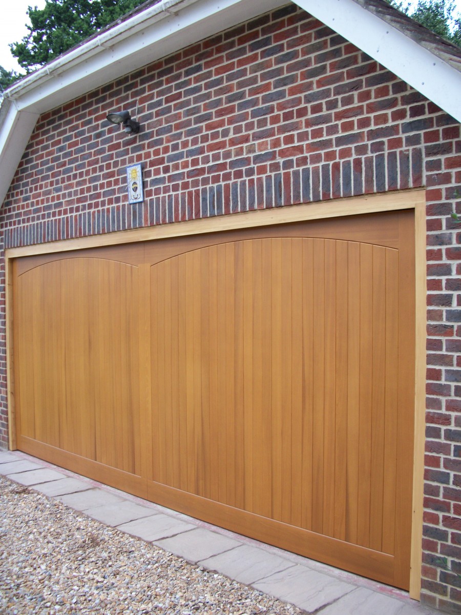
[[[105,121],[138,108],[141,133]],[[127,205],[125,166],[144,167]],[[427,186],[422,600],[461,608],[460,125],[290,5],[44,114],[1,211],[2,246]],[[458,196],[460,195],[460,196]],[[1,253],[2,254],[2,253]],[[0,272],[4,288],[4,267]],[[7,442],[4,292],[0,438]]]

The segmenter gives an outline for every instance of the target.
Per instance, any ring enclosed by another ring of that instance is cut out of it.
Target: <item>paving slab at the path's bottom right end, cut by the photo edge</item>
[[[382,593],[372,592],[366,587],[357,587],[353,592],[339,598],[333,604],[322,609],[322,615],[431,615],[431,609],[404,603]]]

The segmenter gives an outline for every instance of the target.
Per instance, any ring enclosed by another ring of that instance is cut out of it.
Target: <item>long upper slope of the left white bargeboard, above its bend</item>
[[[181,2],[171,10],[176,14],[157,13],[151,20],[136,23],[130,30],[104,41],[90,41],[78,49],[79,57],[63,66],[46,67],[32,89],[12,92],[18,109],[38,113],[52,109],[84,92],[109,83],[159,58],[212,36],[237,23],[261,15],[286,0],[194,0]],[[154,5],[157,6],[157,5]],[[101,37],[102,38],[102,37]],[[61,58],[64,59],[64,58]]]

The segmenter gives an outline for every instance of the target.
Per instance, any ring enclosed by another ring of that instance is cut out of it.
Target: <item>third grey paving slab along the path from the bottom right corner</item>
[[[295,566],[291,561],[246,544],[199,563],[245,585]]]

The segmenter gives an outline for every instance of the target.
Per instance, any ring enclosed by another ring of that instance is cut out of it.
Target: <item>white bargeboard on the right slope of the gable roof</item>
[[[461,73],[353,0],[293,0],[461,121]]]

